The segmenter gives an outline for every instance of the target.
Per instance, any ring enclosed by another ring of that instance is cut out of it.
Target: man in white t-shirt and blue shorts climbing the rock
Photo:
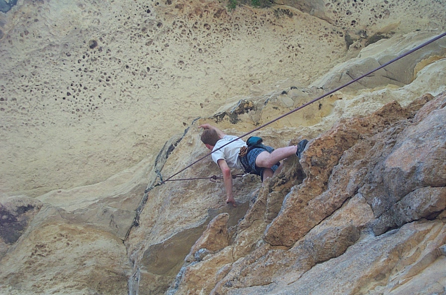
[[[235,140],[237,138],[236,136],[226,135],[217,127],[209,124],[201,125],[199,128],[204,129],[204,132],[201,135],[201,141],[207,148],[213,151],[211,154],[212,159],[222,170],[223,182],[227,196],[226,203],[231,203],[234,207],[236,205],[232,193],[231,168],[250,171],[251,173],[260,175],[262,181],[265,181],[266,178],[272,177],[275,173],[282,169],[282,165],[280,163],[281,160],[293,154],[300,157],[302,151],[305,149],[305,146],[308,143],[307,140],[302,140],[297,146],[277,149],[259,144],[248,148],[248,152],[245,153],[246,143],[241,139],[224,146]],[[221,149],[217,150],[218,148]]]

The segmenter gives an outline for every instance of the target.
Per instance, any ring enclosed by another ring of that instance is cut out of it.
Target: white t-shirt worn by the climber
[[[219,140],[216,144],[215,147],[213,148],[213,153],[211,154],[212,159],[214,160],[214,162],[216,162],[218,164],[218,160],[220,159],[224,159],[226,160],[227,165],[230,168],[237,168],[240,170],[243,170],[243,165],[241,164],[241,162],[238,159],[238,152],[240,151],[241,147],[246,147],[246,143],[244,141],[242,141],[241,139],[236,140],[233,143],[230,143],[229,145],[217,150],[217,148],[220,148],[224,145],[226,145],[227,143],[235,140],[237,137],[236,136],[232,136],[232,135],[225,135],[223,137],[223,139]]]

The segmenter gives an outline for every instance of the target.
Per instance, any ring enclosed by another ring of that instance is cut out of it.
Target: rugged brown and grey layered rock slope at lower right
[[[169,294],[443,293],[445,107],[446,93],[427,95],[340,121],[310,142],[300,165],[286,160],[285,171],[260,188],[229,245],[219,238],[225,216],[210,223],[201,239],[214,237],[220,247],[195,245],[195,260],[186,259]],[[426,146],[410,144],[415,138]],[[402,151],[406,145],[413,151]],[[288,178],[289,169],[302,169],[303,182]],[[270,199],[286,182],[294,183],[271,221]]]

